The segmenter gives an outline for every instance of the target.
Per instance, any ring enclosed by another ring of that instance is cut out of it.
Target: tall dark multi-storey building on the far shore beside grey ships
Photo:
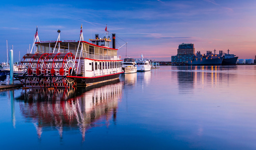
[[[182,43],[177,49],[177,55],[172,56],[173,63],[186,63],[192,60],[195,54],[195,47],[193,43]]]

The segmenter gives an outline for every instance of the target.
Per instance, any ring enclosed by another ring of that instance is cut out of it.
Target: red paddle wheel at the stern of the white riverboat
[[[19,65],[19,78],[25,87],[68,88],[74,80],[66,78],[75,75],[77,62],[69,53],[27,53]]]

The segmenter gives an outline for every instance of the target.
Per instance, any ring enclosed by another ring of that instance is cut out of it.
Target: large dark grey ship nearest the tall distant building
[[[188,65],[221,65],[223,57],[219,54],[213,54],[212,51],[207,51],[206,54],[201,54],[197,51],[193,55],[192,60],[187,61]]]

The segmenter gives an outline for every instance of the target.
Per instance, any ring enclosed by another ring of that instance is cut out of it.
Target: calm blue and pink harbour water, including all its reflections
[[[256,66],[161,66],[0,92],[1,149],[256,149]]]

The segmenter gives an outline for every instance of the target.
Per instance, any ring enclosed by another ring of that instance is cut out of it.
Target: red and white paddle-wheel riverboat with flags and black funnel
[[[69,88],[88,86],[118,79],[123,73],[121,56],[117,55],[115,33],[111,39],[106,27],[106,36],[96,34],[91,42],[84,41],[82,26],[79,40],[39,40],[36,31],[33,46],[36,53],[23,56],[18,75],[25,87]]]

